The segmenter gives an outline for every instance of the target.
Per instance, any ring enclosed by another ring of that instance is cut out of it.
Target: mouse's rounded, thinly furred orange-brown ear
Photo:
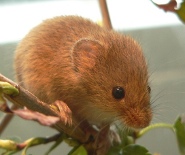
[[[103,46],[97,40],[80,39],[72,50],[72,60],[75,70],[82,71],[95,66],[98,55],[103,52]]]

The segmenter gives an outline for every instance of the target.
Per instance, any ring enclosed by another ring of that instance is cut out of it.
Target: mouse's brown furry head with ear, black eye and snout
[[[119,120],[126,127],[146,127],[152,110],[142,50],[130,37],[110,37],[81,39],[73,48],[74,69],[86,101],[80,113],[95,124]]]

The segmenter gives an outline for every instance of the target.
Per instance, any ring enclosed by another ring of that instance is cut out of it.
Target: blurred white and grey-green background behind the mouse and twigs
[[[174,123],[185,112],[185,26],[175,14],[165,13],[150,0],[107,0],[107,5],[113,28],[133,36],[143,47],[156,106],[152,123]],[[102,21],[98,0],[0,0],[0,73],[15,80],[13,57],[18,42],[44,19],[71,14]],[[55,133],[54,129],[15,117],[1,139],[24,141]],[[151,153],[179,154],[175,136],[168,129],[155,129],[137,143]],[[44,154],[50,146],[31,148],[29,154]],[[67,154],[70,149],[63,143],[51,155]]]

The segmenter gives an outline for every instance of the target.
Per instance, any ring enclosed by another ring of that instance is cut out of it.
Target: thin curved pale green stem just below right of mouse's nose
[[[142,137],[145,133],[147,133],[148,131],[155,129],[155,128],[168,128],[168,129],[171,129],[172,131],[174,131],[174,127],[172,124],[156,123],[156,124],[152,124],[144,129],[142,129],[141,131],[139,131],[136,134],[136,138]]]

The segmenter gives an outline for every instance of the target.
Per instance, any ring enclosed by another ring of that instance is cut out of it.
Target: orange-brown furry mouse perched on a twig
[[[16,48],[18,83],[93,125],[121,122],[141,129],[152,119],[148,65],[132,37],[80,16],[57,16],[34,27]]]

